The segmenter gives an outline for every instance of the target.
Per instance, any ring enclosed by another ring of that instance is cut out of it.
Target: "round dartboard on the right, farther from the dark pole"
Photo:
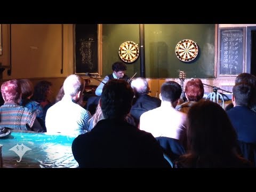
[[[198,54],[198,46],[190,39],[183,39],[176,45],[175,54],[181,61],[192,61]]]

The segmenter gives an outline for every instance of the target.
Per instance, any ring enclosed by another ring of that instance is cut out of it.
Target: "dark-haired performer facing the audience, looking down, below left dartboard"
[[[127,69],[126,65],[121,61],[117,61],[117,62],[113,63],[113,65],[112,65],[113,73],[107,75],[102,80],[103,83],[99,84],[99,86],[95,90],[95,94],[98,95],[98,96],[101,95],[103,86],[105,85],[105,83],[107,83],[109,81],[109,79],[114,79],[114,78],[115,79],[125,79],[125,81],[128,81],[129,77],[127,75],[125,75],[126,69]]]

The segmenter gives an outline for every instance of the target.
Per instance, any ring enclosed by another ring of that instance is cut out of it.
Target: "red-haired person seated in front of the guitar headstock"
[[[175,109],[187,114],[189,108],[204,97],[204,85],[201,79],[196,78],[187,82],[185,97],[187,102],[177,105]]]

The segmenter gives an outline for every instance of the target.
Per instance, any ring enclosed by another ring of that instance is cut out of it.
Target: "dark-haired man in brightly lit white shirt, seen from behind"
[[[185,146],[187,115],[175,109],[181,91],[181,86],[174,81],[163,83],[159,94],[161,106],[140,116],[140,129],[153,134],[154,137],[178,139]]]

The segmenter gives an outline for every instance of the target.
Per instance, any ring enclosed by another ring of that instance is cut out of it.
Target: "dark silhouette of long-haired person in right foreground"
[[[225,110],[215,102],[202,100],[188,111],[188,153],[174,167],[251,167],[238,155],[237,135]]]

